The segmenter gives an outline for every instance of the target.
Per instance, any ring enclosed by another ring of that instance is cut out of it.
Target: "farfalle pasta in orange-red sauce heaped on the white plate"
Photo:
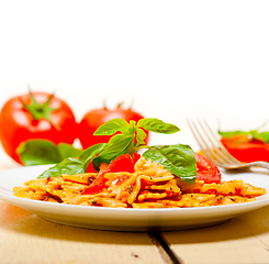
[[[83,194],[97,177],[98,173],[86,173],[37,178],[13,191],[18,197],[48,202],[139,209],[234,205],[254,201],[266,194],[266,189],[243,180],[205,184],[197,179],[191,185],[145,157],[135,163],[134,173],[105,173],[105,188]]]

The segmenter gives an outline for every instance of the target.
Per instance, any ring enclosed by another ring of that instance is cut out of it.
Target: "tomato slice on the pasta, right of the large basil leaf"
[[[221,172],[218,167],[208,157],[194,153],[197,160],[197,179],[204,180],[205,184],[221,183]]]

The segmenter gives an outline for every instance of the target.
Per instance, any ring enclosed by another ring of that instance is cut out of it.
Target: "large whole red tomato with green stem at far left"
[[[2,146],[18,163],[21,162],[15,150],[23,141],[46,139],[56,144],[72,144],[76,134],[77,123],[70,107],[46,92],[13,97],[5,102],[0,112]]]

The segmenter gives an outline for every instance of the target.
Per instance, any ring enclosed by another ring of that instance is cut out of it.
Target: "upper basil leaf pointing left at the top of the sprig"
[[[112,135],[117,131],[125,132],[131,129],[131,125],[125,119],[111,119],[107,123],[100,125],[93,135]]]

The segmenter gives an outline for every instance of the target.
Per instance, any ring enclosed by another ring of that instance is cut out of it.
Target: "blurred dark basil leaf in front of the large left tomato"
[[[56,144],[48,140],[29,140],[16,148],[21,162],[25,166],[54,164],[63,158]]]

